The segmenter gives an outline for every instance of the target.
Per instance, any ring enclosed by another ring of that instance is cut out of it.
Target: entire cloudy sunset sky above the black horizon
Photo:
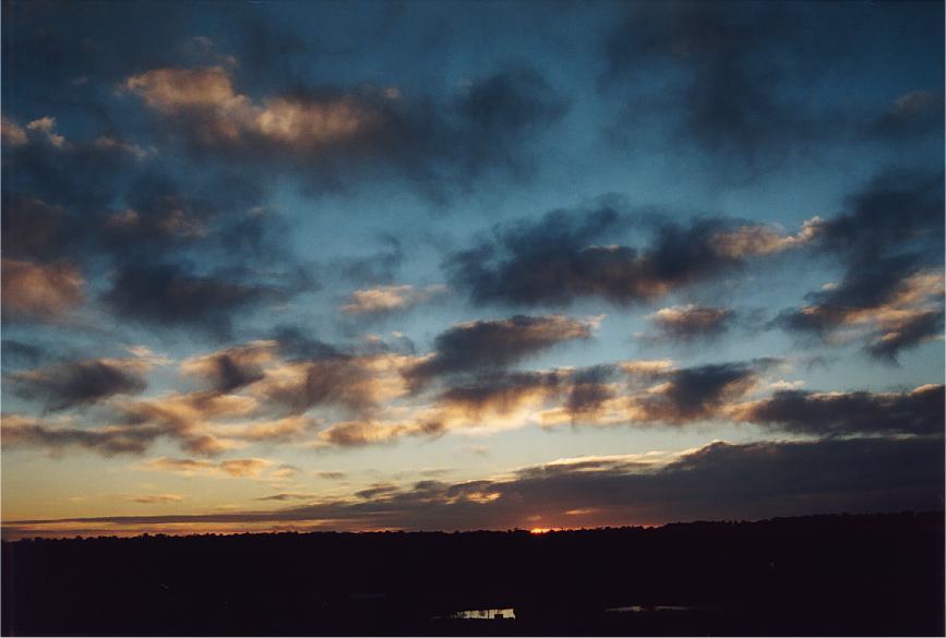
[[[942,2],[2,3],[2,533],[944,506]]]

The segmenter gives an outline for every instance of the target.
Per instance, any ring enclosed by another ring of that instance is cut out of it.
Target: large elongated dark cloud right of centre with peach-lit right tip
[[[565,305],[600,298],[623,305],[659,299],[814,236],[809,226],[783,236],[725,219],[696,218],[685,226],[652,214],[632,219],[624,208],[606,198],[588,210],[553,210],[537,221],[499,227],[491,239],[446,260],[451,284],[477,303]],[[600,243],[632,221],[652,231],[649,245]]]

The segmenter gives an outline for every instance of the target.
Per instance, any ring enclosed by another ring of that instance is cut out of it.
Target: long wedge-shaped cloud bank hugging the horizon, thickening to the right
[[[675,454],[560,459],[501,478],[379,485],[360,496],[266,511],[5,522],[154,530],[170,523],[200,529],[211,522],[331,521],[338,530],[469,530],[531,528],[537,520],[544,527],[590,527],[925,510],[941,503],[943,471],[942,437],[716,442]]]

